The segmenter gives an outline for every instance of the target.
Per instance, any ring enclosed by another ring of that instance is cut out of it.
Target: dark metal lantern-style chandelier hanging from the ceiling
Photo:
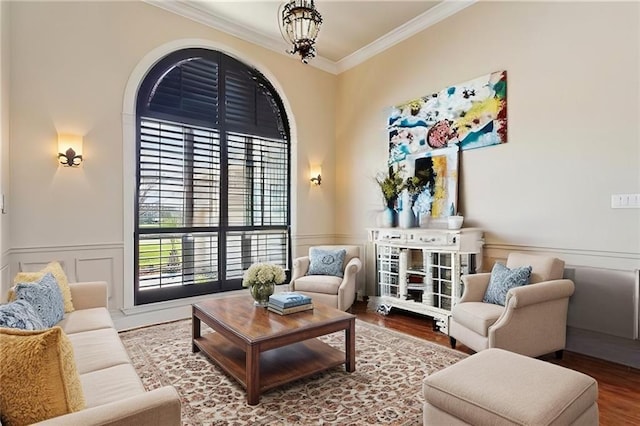
[[[291,0],[282,7],[280,32],[293,45],[290,54],[298,53],[305,64],[316,56],[314,46],[322,24],[322,16],[313,0]]]

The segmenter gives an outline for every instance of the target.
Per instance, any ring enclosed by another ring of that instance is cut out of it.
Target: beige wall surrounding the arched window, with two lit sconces
[[[123,307],[125,87],[145,55],[181,39],[273,77],[295,114],[294,254],[333,234],[335,181],[308,179],[311,163],[335,174],[334,75],[143,2],[12,2],[9,13],[11,275],[59,260],[72,280],[111,281],[110,306]],[[59,132],[83,135],[80,168],[58,166]]]

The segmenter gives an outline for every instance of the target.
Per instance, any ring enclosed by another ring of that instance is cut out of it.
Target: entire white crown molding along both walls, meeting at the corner
[[[189,0],[143,0],[145,3],[175,13],[192,21],[207,25],[216,30],[225,32],[241,40],[248,41],[282,55],[289,56],[289,47],[284,40],[276,39],[268,34],[252,30],[220,16],[212,15],[208,10]],[[403,40],[419,33],[420,31],[448,18],[449,16],[472,5],[477,0],[443,0],[421,15],[409,22],[388,32],[379,39],[373,41],[360,50],[341,59],[338,62],[331,61],[323,56],[316,56],[309,62],[310,66],[321,69],[331,74],[340,74],[355,67],[367,59],[389,49]],[[297,59],[291,57],[294,61]]]

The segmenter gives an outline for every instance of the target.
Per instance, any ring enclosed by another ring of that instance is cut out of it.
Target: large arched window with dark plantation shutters
[[[240,289],[254,262],[289,269],[290,137],[257,70],[173,52],[137,96],[134,303]]]

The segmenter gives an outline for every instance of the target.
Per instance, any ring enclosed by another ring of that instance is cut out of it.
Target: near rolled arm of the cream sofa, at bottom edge
[[[180,396],[165,386],[121,401],[54,417],[38,425],[179,426]]]

